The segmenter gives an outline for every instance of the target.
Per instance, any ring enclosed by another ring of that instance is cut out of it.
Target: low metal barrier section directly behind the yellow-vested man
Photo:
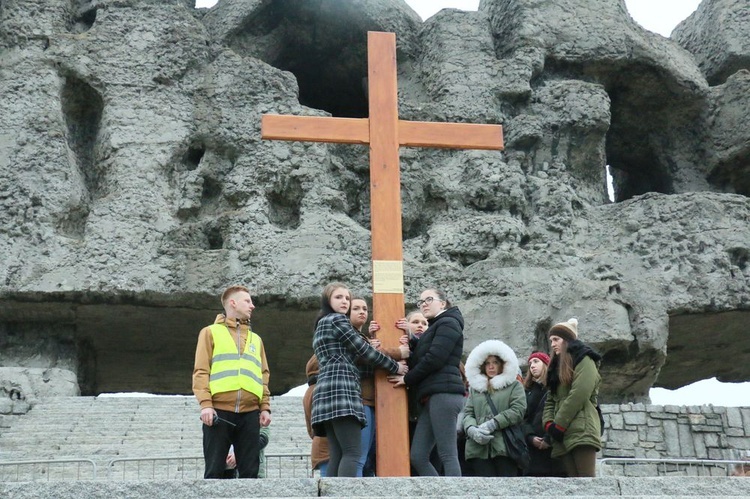
[[[266,454],[266,478],[311,478],[310,454]],[[109,480],[194,480],[203,478],[203,456],[129,457],[107,464]]]

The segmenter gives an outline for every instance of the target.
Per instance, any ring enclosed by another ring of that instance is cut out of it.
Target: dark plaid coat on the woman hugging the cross
[[[371,347],[343,314],[320,319],[313,335],[313,350],[320,363],[312,404],[315,435],[326,436],[324,423],[346,416],[354,416],[365,427],[357,359],[391,373],[398,371],[398,364]]]

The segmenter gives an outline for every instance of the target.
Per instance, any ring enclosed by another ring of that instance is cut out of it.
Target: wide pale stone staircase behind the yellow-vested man
[[[302,399],[273,397],[271,407],[266,453],[309,453]],[[90,459],[106,476],[113,459],[201,457],[199,413],[192,396],[40,399],[0,434],[0,461]],[[202,477],[202,458],[190,467],[197,471],[189,478]]]

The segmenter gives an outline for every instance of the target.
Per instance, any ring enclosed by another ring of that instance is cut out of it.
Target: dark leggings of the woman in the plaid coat
[[[357,476],[357,462],[362,453],[362,425],[355,417],[335,418],[325,422],[328,437],[327,477]]]

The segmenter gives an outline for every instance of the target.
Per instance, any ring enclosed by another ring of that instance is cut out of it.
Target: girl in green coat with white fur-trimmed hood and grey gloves
[[[501,430],[523,421],[526,394],[516,378],[518,359],[499,340],[480,343],[466,359],[469,396],[464,408],[466,463],[474,476],[517,476]],[[497,414],[487,401],[492,399]]]

